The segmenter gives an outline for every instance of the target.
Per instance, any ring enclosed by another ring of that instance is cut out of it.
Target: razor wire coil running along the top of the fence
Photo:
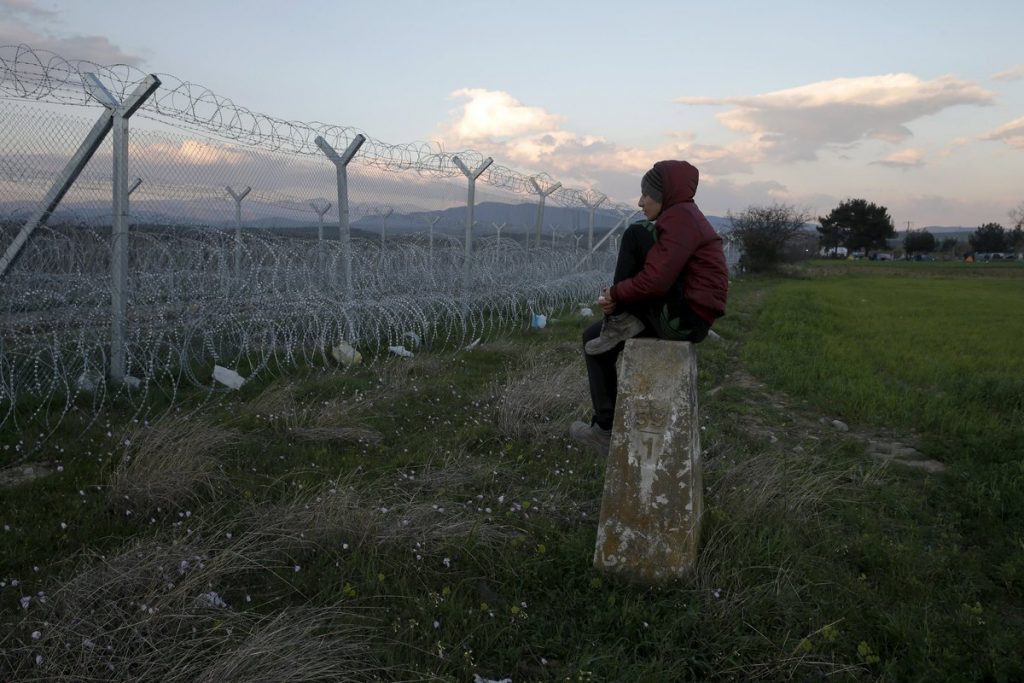
[[[84,59],[66,59],[25,44],[0,46],[0,95],[3,96],[89,105],[93,101],[83,81],[87,73],[95,74],[119,99],[124,99],[147,76],[128,65],[104,66]],[[161,87],[136,116],[197,129],[226,140],[273,152],[319,157],[323,153],[316,146],[316,137],[323,137],[336,150],[344,150],[361,134],[366,137],[357,157],[361,163],[388,171],[414,171],[438,177],[462,175],[453,161],[455,157],[470,168],[475,168],[484,159],[479,152],[445,152],[432,142],[387,143],[350,126],[278,119],[253,112],[205,86],[170,74],[157,76],[162,81]],[[554,184],[546,173],[526,175],[501,164],[492,164],[480,176],[480,181],[517,195],[534,195],[531,177],[542,186]],[[587,207],[598,197],[606,199],[593,188],[560,187],[550,199],[565,207]]]

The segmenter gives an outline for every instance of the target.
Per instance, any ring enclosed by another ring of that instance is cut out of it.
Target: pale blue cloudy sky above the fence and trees
[[[275,118],[472,148],[724,215],[846,198],[898,227],[1024,202],[1024,2],[0,0],[0,45],[173,74]]]

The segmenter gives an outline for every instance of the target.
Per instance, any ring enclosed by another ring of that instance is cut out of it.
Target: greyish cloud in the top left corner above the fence
[[[0,0],[0,45],[19,45],[49,50],[66,59],[85,59],[98,65],[141,63],[103,36],[83,36],[59,30],[56,12],[39,7],[33,0]]]

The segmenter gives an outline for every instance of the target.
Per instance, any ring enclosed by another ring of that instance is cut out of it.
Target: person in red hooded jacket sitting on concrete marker
[[[693,203],[699,174],[685,161],[659,161],[640,181],[645,220],[623,233],[605,317],[583,334],[593,416],[569,435],[606,455],[615,414],[615,360],[632,337],[697,343],[725,314],[729,270],[722,238]]]

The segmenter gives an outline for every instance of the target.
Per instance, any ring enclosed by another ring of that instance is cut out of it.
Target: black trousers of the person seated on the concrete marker
[[[613,282],[620,283],[636,275],[643,269],[647,252],[654,246],[653,228],[642,223],[630,225],[623,233],[623,242],[618,247],[618,259],[615,261]],[[638,337],[659,337],[663,339],[678,339],[680,341],[699,342],[708,336],[710,326],[686,303],[683,296],[682,274],[663,296],[649,301],[632,304],[617,304],[615,312],[629,312],[643,321],[644,329]],[[681,321],[680,330],[666,328],[667,317]],[[595,323],[583,333],[583,343],[596,339],[601,335],[603,323]],[[587,359],[587,378],[590,381],[590,399],[594,405],[592,424],[602,429],[611,429],[611,421],[615,416],[615,396],[618,393],[618,376],[615,373],[615,360],[626,347],[626,342],[615,344],[609,351],[598,355],[584,353]]]

